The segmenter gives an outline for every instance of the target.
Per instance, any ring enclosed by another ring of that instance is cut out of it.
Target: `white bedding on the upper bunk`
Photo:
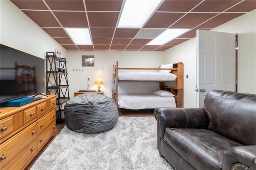
[[[129,81],[174,81],[177,76],[172,73],[159,72],[119,72],[118,80]]]

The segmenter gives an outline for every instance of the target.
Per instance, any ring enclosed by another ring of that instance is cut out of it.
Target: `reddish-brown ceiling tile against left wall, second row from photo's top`
[[[40,27],[60,27],[50,11],[23,11]]]

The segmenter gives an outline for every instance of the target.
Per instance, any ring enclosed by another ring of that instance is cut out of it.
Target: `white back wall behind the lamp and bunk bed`
[[[112,97],[112,68],[118,61],[119,67],[159,67],[164,63],[164,51],[68,51],[67,53],[68,83],[70,97],[74,92],[87,88],[87,79],[90,78],[90,89],[96,90],[94,81],[101,77],[103,85],[101,91],[104,95]],[[104,71],[93,71],[94,67],[82,67],[82,55],[94,55],[94,66],[104,67]],[[84,71],[72,71],[73,67],[81,67]],[[159,89],[158,83],[140,84],[119,83],[118,93],[147,93]],[[152,85],[153,84],[153,85]],[[145,88],[146,87],[146,88]]]

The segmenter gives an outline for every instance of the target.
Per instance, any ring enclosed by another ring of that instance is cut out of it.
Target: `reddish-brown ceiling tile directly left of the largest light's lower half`
[[[90,28],[115,28],[119,12],[87,12]]]

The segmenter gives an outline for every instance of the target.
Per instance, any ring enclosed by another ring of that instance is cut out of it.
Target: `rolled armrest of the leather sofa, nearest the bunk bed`
[[[207,128],[209,119],[202,108],[157,108],[154,110],[160,137],[165,128]]]

